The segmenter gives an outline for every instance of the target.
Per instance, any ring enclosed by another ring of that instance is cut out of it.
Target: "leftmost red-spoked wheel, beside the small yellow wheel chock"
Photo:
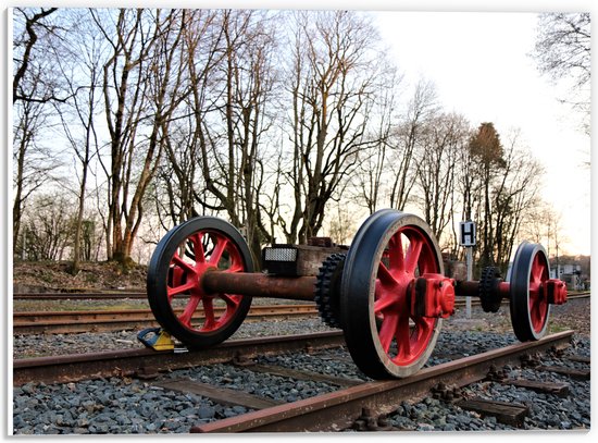
[[[148,299],[155,319],[191,348],[228,339],[251,306],[251,297],[207,293],[201,276],[212,270],[253,271],[241,234],[213,217],[198,217],[169,231],[148,267]]]

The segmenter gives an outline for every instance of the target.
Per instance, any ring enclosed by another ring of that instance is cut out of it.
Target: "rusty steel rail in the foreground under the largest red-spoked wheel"
[[[546,336],[461,358],[431,368],[401,380],[375,381],[296,403],[273,406],[236,417],[196,426],[191,432],[304,432],[346,429],[371,408],[378,414],[396,409],[401,401],[421,399],[440,382],[464,386],[483,380],[490,366],[519,365],[524,354],[537,353],[569,344],[573,331]]]

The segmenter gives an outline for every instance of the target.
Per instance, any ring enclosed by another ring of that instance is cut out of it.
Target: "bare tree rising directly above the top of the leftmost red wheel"
[[[214,202],[209,201],[203,172],[213,130],[210,115],[215,113],[214,100],[220,96],[215,70],[224,57],[220,16],[219,11],[189,10],[182,17],[179,57],[186,63],[179,63],[179,70],[188,94],[180,102],[178,118],[171,123],[171,131],[164,134],[165,157],[153,188],[164,229],[205,210],[216,210]]]

